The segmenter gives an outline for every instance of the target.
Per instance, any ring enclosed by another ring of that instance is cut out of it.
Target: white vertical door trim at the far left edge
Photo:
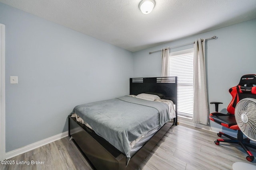
[[[5,159],[5,41],[4,25],[0,23],[0,160]]]

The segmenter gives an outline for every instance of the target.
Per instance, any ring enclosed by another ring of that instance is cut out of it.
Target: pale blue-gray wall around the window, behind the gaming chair
[[[209,38],[216,35],[218,39],[206,42],[206,76],[209,102],[220,101],[219,110],[226,113],[226,107],[232,97],[228,92],[236,86],[244,74],[256,74],[256,20],[246,21],[222,29],[173,41],[134,53],[134,77],[161,76],[161,52],[149,55],[166,47],[174,47],[195,41],[197,38]],[[178,51],[193,48],[193,45],[172,49]],[[214,106],[209,107],[213,112]],[[222,126],[210,122],[210,126]],[[227,130],[227,129],[226,129]]]

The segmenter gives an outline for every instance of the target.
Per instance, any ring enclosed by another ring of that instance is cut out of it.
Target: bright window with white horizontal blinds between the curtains
[[[193,117],[193,58],[194,49],[169,55],[168,76],[178,76],[178,115]]]

